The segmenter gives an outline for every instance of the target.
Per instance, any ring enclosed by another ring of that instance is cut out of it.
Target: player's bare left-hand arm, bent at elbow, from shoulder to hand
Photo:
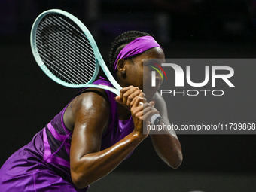
[[[66,120],[69,121],[67,124],[74,125],[70,163],[76,187],[87,187],[108,175],[148,136],[142,134],[143,106],[139,102],[143,102],[143,98],[137,96],[131,108],[135,124],[133,133],[110,148],[99,151],[102,133],[108,126],[108,100],[97,93],[84,93],[73,100]]]

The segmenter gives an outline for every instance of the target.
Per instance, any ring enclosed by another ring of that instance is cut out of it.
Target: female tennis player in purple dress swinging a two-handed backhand
[[[169,124],[165,102],[157,89],[149,88],[151,68],[144,66],[145,59],[165,59],[151,35],[130,31],[118,36],[111,47],[109,68],[123,87],[120,96],[98,88],[81,90],[32,142],[9,157],[0,169],[0,190],[87,191],[148,137],[143,122],[160,114],[160,123]],[[148,81],[143,81],[143,75]],[[157,75],[156,82],[160,87]],[[111,86],[104,78],[94,84]],[[150,136],[157,154],[177,168],[182,153],[175,133]]]

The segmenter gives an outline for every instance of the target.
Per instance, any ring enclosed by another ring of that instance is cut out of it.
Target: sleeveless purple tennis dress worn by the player
[[[97,80],[94,84],[111,86],[108,81]],[[133,119],[119,120],[114,93],[108,93],[111,106],[108,130],[102,136],[101,150],[109,148],[133,131]],[[67,108],[67,106],[66,106]],[[0,169],[1,192],[87,191],[79,190],[70,174],[70,144],[72,132],[63,123],[64,108],[32,142],[20,148]]]

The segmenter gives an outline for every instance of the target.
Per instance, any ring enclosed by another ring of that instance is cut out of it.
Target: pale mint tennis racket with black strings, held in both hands
[[[122,87],[105,65],[93,36],[72,14],[58,9],[44,11],[32,26],[30,42],[36,62],[53,81],[66,87],[110,90],[120,96]],[[114,88],[92,84],[99,66]],[[151,124],[160,119],[159,114],[154,114]]]

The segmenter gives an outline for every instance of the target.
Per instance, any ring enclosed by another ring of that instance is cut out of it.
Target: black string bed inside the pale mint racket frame
[[[85,84],[93,77],[96,61],[84,32],[69,18],[48,14],[38,25],[38,52],[47,69],[70,84]]]

